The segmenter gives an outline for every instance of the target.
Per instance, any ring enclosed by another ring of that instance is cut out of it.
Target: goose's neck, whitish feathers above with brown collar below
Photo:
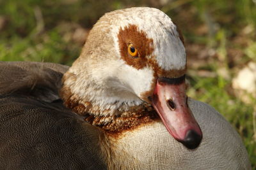
[[[116,133],[153,121],[157,117],[154,108],[134,97],[134,94],[129,92],[115,94],[113,90],[110,93],[106,91],[111,90],[109,88],[100,89],[93,85],[92,81],[79,82],[81,78],[77,79],[74,73],[65,73],[60,96],[67,108],[82,115],[84,120],[92,125]],[[90,82],[90,85],[86,82]],[[79,84],[83,87],[79,88]],[[106,94],[115,94],[115,97]]]

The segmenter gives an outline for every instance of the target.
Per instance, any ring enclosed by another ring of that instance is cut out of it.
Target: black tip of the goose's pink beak
[[[195,131],[189,130],[186,134],[185,139],[180,141],[180,143],[186,146],[186,148],[188,148],[189,150],[193,150],[200,145],[202,137],[202,135],[197,134]]]

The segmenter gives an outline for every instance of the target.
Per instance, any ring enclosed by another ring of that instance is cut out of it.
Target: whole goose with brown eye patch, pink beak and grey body
[[[239,134],[186,95],[163,11],[103,15],[71,67],[0,62],[0,169],[251,169]]]

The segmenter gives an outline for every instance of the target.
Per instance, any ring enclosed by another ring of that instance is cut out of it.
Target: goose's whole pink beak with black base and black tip
[[[185,75],[158,78],[152,105],[173,138],[189,149],[199,146],[203,134],[187,103]]]

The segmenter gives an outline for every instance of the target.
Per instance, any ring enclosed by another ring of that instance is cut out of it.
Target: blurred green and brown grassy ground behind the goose
[[[184,34],[189,96],[227,118],[256,169],[255,94],[232,87],[237,73],[256,62],[256,0],[1,0],[0,6],[0,60],[67,65],[104,13],[132,6],[164,11]]]

